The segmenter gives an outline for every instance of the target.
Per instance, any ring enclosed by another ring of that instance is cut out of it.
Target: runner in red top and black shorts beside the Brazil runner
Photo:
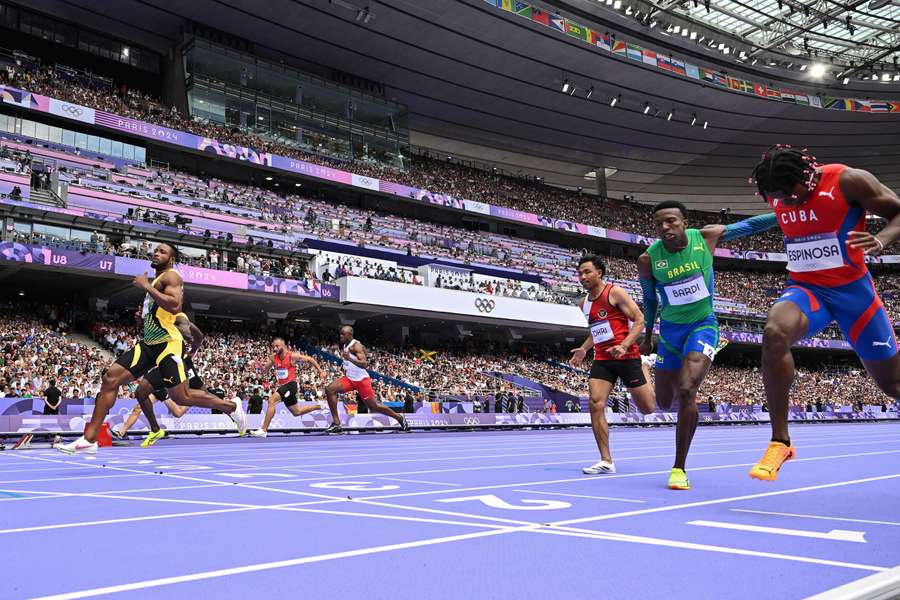
[[[628,292],[603,281],[605,274],[606,266],[599,256],[585,256],[578,263],[578,278],[587,291],[580,306],[591,333],[581,346],[572,350],[569,362],[572,366],[581,364],[593,346],[594,362],[588,389],[591,427],[600,449],[600,461],[582,469],[586,475],[616,472],[609,452],[609,425],[606,422],[606,399],[616,381],[622,380],[642,413],[650,414],[656,408],[650,372],[646,364],[642,364],[637,345],[644,329],[644,315]]]

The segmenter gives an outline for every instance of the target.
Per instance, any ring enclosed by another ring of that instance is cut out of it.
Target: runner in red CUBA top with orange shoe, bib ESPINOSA
[[[788,279],[769,311],[763,335],[762,376],[772,440],[752,469],[773,481],[796,455],[788,434],[788,397],[794,380],[791,346],[837,323],[878,388],[900,398],[900,355],[887,311],[866,267],[900,239],[900,199],[867,171],[818,164],[806,150],[774,146],[753,172],[784,234]],[[866,215],[888,224],[866,231]]]

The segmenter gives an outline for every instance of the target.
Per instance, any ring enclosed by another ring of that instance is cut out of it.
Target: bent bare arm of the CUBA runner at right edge
[[[851,231],[848,246],[876,255],[900,240],[900,199],[874,175],[862,169],[845,170],[841,174],[841,192],[851,202],[888,221],[877,235],[867,231]]]

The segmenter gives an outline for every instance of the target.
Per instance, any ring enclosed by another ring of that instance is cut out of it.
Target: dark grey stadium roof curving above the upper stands
[[[754,43],[769,36],[771,44],[775,23],[768,24],[768,33],[751,29],[769,18],[756,13],[780,14],[777,0],[747,1],[714,0],[709,14],[700,14],[705,13],[702,2],[698,7],[665,4],[669,18],[703,17],[707,25],[715,21]],[[756,12],[741,3],[755,6]],[[597,0],[556,4],[598,31],[608,27],[660,49],[665,42],[673,52],[729,75],[782,87],[802,85],[809,94],[822,88],[800,73],[739,64],[673,36],[666,41],[633,16],[599,10]],[[808,146],[822,161],[866,168],[888,186],[900,185],[900,114],[824,110],[735,93],[553,35],[484,0],[365,5],[363,0],[119,0],[104,3],[102,11],[91,0],[30,5],[160,50],[181,40],[186,24],[199,22],[301,67],[336,68],[383,82],[388,99],[409,108],[413,144],[571,188],[590,188],[585,175],[604,167],[614,173],[608,180],[613,196],[629,194],[648,203],[677,198],[695,207],[754,212],[763,207],[747,178],[761,152],[775,143]],[[828,10],[824,4],[820,8]],[[846,27],[837,19],[825,33],[833,30],[847,38],[848,31],[838,31]],[[877,32],[865,43],[890,45],[892,34],[864,24],[885,19],[859,16],[854,37],[861,39],[864,30]],[[797,26],[780,34],[785,44],[797,43],[794,33],[802,23],[796,14],[795,21]],[[843,47],[821,35],[821,26],[817,30],[810,44],[820,44],[823,52],[828,44]],[[563,93],[565,82],[574,91]],[[878,99],[896,94],[895,89],[854,80],[843,93]]]

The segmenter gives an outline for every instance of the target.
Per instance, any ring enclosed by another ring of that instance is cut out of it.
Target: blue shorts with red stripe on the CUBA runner
[[[863,360],[887,360],[897,354],[897,338],[872,277],[866,275],[839,287],[795,283],[788,279],[777,302],[789,300],[806,318],[813,337],[833,321]]]

